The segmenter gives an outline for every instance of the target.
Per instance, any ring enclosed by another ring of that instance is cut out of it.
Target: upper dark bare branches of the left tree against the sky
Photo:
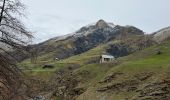
[[[26,44],[25,39],[32,37],[18,17],[23,16],[24,5],[19,0],[0,0],[0,42],[14,48]],[[1,48],[2,49],[2,48]]]

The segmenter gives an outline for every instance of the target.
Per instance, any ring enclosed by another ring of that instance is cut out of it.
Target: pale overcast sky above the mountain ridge
[[[73,33],[100,19],[146,33],[170,26],[170,0],[22,0],[34,42]]]

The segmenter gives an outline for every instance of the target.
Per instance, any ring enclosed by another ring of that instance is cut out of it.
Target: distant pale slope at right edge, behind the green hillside
[[[153,36],[154,40],[157,42],[162,42],[164,40],[170,39],[170,26],[155,32]]]

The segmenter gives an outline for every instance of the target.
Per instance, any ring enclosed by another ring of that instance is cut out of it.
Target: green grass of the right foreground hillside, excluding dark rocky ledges
[[[156,55],[158,50],[161,50],[161,55]],[[138,96],[136,92],[99,93],[96,92],[96,90],[110,84],[123,83],[126,82],[126,80],[133,80],[135,79],[134,76],[139,73],[154,73],[154,75],[149,80],[141,82],[138,88],[149,83],[164,80],[164,78],[169,76],[168,73],[170,72],[170,41],[136,52],[118,60],[122,63],[117,66],[110,64],[100,65],[101,70],[107,68],[108,66],[112,67],[107,70],[106,73],[100,73],[100,70],[98,70],[99,72],[96,77],[99,76],[100,78],[96,78],[96,83],[88,87],[87,91],[78,97],[78,100],[83,100],[84,98],[86,98],[86,100],[98,100],[99,98],[103,98],[104,100],[124,100],[125,98],[129,98],[131,100]],[[89,69],[87,66],[87,69],[91,71],[93,70],[93,67]],[[123,73],[124,75],[119,76],[110,83],[98,83],[100,80],[104,79],[104,77],[112,75],[116,72]]]

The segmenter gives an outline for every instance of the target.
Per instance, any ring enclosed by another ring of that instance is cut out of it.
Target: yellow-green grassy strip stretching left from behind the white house
[[[111,41],[111,42],[108,42],[107,44],[100,44],[99,46],[97,46],[85,53],[75,55],[75,56],[69,57],[67,59],[60,60],[60,61],[52,60],[51,55],[54,55],[55,53],[50,52],[48,54],[39,56],[36,64],[32,64],[30,62],[30,59],[26,59],[23,62],[21,62],[19,64],[19,66],[21,66],[21,68],[31,69],[32,71],[37,71],[37,70],[43,71],[42,66],[44,64],[52,64],[56,67],[60,67],[61,65],[64,66],[65,64],[67,65],[69,63],[83,65],[84,63],[90,61],[91,59],[99,57],[101,54],[105,53],[105,50],[106,50],[106,48],[108,48],[108,45],[114,44],[117,42],[118,41]],[[52,70],[55,71],[56,70],[55,68]],[[44,70],[44,71],[47,71],[47,70]]]

